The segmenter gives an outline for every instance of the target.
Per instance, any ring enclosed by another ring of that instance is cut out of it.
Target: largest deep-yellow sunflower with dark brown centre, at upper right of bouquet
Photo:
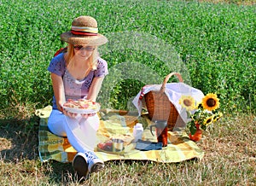
[[[207,94],[207,96],[204,96],[201,104],[204,109],[207,109],[208,111],[212,111],[219,107],[219,100],[216,94],[210,93],[210,94]]]

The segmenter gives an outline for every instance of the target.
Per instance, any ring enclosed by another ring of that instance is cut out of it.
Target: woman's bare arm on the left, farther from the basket
[[[55,94],[57,108],[63,112],[62,105],[65,102],[64,86],[61,76],[51,73],[52,86]]]

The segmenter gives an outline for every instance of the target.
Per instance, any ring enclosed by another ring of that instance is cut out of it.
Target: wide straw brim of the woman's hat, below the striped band
[[[99,46],[108,42],[108,38],[99,33],[96,36],[78,36],[74,35],[72,32],[64,32],[61,34],[61,40],[69,44],[86,44],[93,46]]]

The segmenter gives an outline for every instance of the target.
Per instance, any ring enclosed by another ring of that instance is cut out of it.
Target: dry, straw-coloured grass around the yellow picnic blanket
[[[12,122],[0,125],[1,185],[79,185],[71,164],[38,160],[38,125],[25,131],[27,121]],[[255,126],[254,115],[226,117],[198,142],[205,151],[201,161],[109,161],[104,171],[92,174],[83,184],[255,185]]]

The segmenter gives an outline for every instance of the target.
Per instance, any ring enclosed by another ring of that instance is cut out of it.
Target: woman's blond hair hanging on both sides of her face
[[[68,44],[67,46],[67,53],[65,55],[65,60],[67,62],[67,69],[73,67],[73,56],[74,54],[74,45]],[[88,58],[89,61],[89,70],[87,72],[90,72],[91,70],[96,70],[97,68],[97,57],[98,57],[98,50],[97,47],[93,50],[92,54]],[[86,72],[85,72],[86,73]]]

